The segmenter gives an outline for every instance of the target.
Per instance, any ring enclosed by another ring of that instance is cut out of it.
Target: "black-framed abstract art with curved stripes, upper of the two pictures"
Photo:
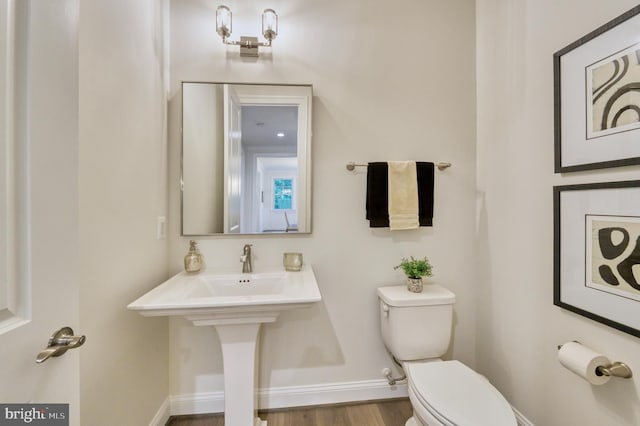
[[[640,164],[640,6],[553,63],[555,172]]]

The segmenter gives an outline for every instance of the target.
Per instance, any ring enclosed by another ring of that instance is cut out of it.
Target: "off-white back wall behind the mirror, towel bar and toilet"
[[[171,271],[181,269],[187,238],[179,229],[180,80],[311,83],[313,234],[207,237],[208,266],[237,265],[254,244],[255,268],[301,251],[323,302],[283,314],[262,333],[260,387],[380,378],[390,366],[381,341],[375,289],[400,284],[403,256],[428,256],[434,281],[453,290],[452,353],[475,364],[478,288],[475,232],[475,8],[471,0],[275,0],[279,35],[260,59],[240,59],[215,33],[217,4],[171,2],[169,119]],[[228,3],[234,37],[257,35],[263,3]],[[349,161],[450,161],[436,172],[435,226],[419,231],[370,229],[366,175]],[[171,320],[170,393],[222,390],[215,331]]]

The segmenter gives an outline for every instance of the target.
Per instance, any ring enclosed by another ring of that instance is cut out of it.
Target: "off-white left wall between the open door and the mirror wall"
[[[168,274],[164,0],[80,2],[82,424],[149,424],[168,394],[168,321],[126,305]]]

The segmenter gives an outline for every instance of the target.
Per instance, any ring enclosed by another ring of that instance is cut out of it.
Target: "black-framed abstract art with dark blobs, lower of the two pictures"
[[[640,181],[556,186],[554,297],[640,337]]]

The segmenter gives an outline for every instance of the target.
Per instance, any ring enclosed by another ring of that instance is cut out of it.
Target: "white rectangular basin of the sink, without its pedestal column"
[[[253,274],[225,270],[181,272],[149,291],[127,308],[144,316],[224,316],[248,312],[279,312],[321,300],[313,270],[270,268]]]

